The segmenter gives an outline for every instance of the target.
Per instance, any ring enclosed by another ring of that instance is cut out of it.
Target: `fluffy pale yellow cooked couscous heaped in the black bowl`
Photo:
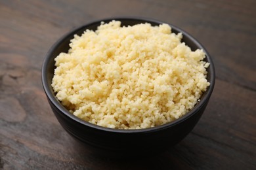
[[[53,90],[72,114],[98,126],[142,129],[194,108],[207,82],[205,53],[167,24],[102,23],[74,35],[55,58]]]

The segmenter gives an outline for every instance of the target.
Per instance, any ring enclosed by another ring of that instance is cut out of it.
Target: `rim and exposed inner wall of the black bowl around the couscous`
[[[66,114],[70,118],[74,119],[75,121],[77,121],[81,124],[85,124],[87,126],[95,127],[98,129],[103,129],[106,131],[119,131],[119,132],[122,132],[122,131],[136,132],[136,131],[138,131],[139,132],[139,131],[147,131],[150,129],[154,130],[154,129],[159,129],[162,127],[164,128],[167,126],[175,125],[178,122],[181,122],[182,120],[184,120],[186,118],[189,118],[191,116],[191,114],[194,114],[194,112],[196,112],[196,110],[200,109],[201,107],[203,107],[203,105],[205,105],[205,103],[207,103],[211,93],[213,92],[213,87],[215,84],[215,70],[214,70],[213,61],[211,60],[211,58],[210,58],[208,52],[205,50],[205,48],[203,48],[202,44],[200,44],[200,42],[196,41],[196,39],[194,39],[191,35],[189,35],[185,31],[182,31],[182,29],[179,29],[178,27],[171,25],[172,32],[173,33],[181,32],[183,35],[182,42],[185,42],[186,45],[190,46],[190,48],[192,50],[196,50],[198,48],[203,49],[206,54],[206,58],[204,60],[210,63],[210,66],[207,68],[207,80],[211,83],[211,85],[207,88],[207,91],[202,94],[202,97],[200,98],[200,102],[198,102],[196,104],[194,109],[190,110],[190,112],[188,112],[187,114],[185,114],[184,116],[182,116],[181,118],[179,118],[173,122],[169,122],[167,124],[157,126],[157,127],[150,127],[147,129],[134,129],[134,130],[132,130],[132,129],[129,129],[129,130],[110,129],[108,127],[96,126],[89,122],[80,120],[79,118],[77,118],[76,116],[74,116],[73,114],[68,112],[68,110],[65,109],[61,105],[60,101],[58,101],[58,99],[56,99],[55,94],[53,92],[53,88],[51,87],[51,83],[52,83],[52,79],[53,79],[53,75],[54,75],[54,69],[55,69],[54,58],[56,58],[56,56],[58,56],[58,54],[60,54],[61,52],[68,52],[68,49],[70,48],[70,46],[69,46],[70,40],[74,38],[75,34],[81,35],[86,29],[96,30],[98,25],[100,25],[100,22],[104,21],[105,23],[108,23],[112,20],[119,20],[119,21],[121,21],[121,25],[125,25],[125,26],[135,25],[135,24],[144,24],[144,23],[150,23],[151,25],[154,26],[154,25],[159,25],[159,24],[163,23],[163,22],[159,22],[156,20],[148,20],[148,19],[140,19],[140,18],[111,18],[111,19],[99,20],[96,22],[92,22],[91,24],[83,25],[77,29],[74,29],[73,31],[71,31],[70,33],[64,35],[64,37],[59,39],[47,53],[47,57],[45,58],[45,61],[43,62],[43,68],[42,68],[43,88],[44,88],[45,93],[47,94],[47,97],[49,98],[49,100],[51,100],[51,102],[54,103],[54,105],[58,109],[62,110],[62,112],[64,112],[64,114]]]

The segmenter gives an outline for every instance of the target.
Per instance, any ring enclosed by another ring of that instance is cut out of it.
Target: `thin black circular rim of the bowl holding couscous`
[[[63,105],[60,104],[58,99],[56,99],[56,96],[53,93],[51,93],[51,87],[48,86],[48,83],[47,83],[47,63],[49,63],[49,60],[51,58],[53,58],[53,55],[51,55],[51,54],[53,54],[56,47],[59,46],[62,43],[62,41],[64,41],[64,39],[66,39],[70,35],[74,35],[80,29],[83,29],[83,28],[86,29],[86,27],[88,27],[89,25],[100,24],[100,22],[108,23],[112,20],[121,21],[121,22],[124,20],[134,20],[134,21],[139,21],[139,22],[143,22],[143,23],[144,22],[152,22],[155,24],[168,24],[171,26],[172,30],[175,29],[175,31],[182,33],[183,37],[184,36],[188,37],[188,39],[190,39],[196,46],[198,46],[198,48],[202,49],[205,52],[205,58],[207,58],[208,62],[210,63],[210,65],[209,65],[209,76],[211,77],[209,80],[210,86],[208,86],[207,90],[205,92],[203,92],[203,93],[205,93],[204,94],[205,97],[203,97],[203,99],[200,100],[193,109],[191,109],[186,114],[181,116],[181,118],[178,118],[177,120],[173,120],[172,122],[168,122],[166,124],[162,124],[160,126],[148,127],[148,128],[143,128],[143,129],[113,129],[110,127],[98,126],[96,124],[86,122],[85,120],[81,120],[74,114],[70,113]],[[101,131],[112,132],[112,133],[151,133],[153,131],[159,131],[160,129],[167,129],[171,126],[175,126],[176,124],[180,124],[181,122],[183,122],[183,121],[187,120],[188,118],[190,118],[191,116],[193,116],[198,110],[202,109],[202,107],[207,104],[207,102],[209,101],[209,98],[211,97],[211,93],[213,92],[213,88],[215,85],[215,67],[213,64],[213,60],[211,59],[211,56],[209,55],[207,50],[205,50],[203,45],[198,40],[196,40],[194,37],[192,37],[192,35],[190,35],[186,31],[180,29],[179,27],[176,27],[173,24],[169,24],[167,22],[161,22],[160,20],[154,20],[154,19],[142,18],[142,17],[117,17],[117,18],[114,17],[114,18],[104,18],[101,20],[95,20],[93,22],[89,22],[88,24],[83,24],[79,27],[76,27],[72,31],[68,31],[68,33],[64,34],[60,39],[58,39],[58,41],[56,41],[53,44],[53,46],[51,46],[51,48],[45,55],[45,59],[43,61],[43,65],[42,65],[42,69],[41,69],[41,80],[42,80],[42,84],[43,84],[43,90],[45,91],[49,101],[51,101],[51,103],[53,103],[54,107],[56,107],[63,114],[68,116],[68,118],[71,118],[78,124],[81,124],[83,126],[88,126],[88,127],[94,128],[94,129],[98,129]]]

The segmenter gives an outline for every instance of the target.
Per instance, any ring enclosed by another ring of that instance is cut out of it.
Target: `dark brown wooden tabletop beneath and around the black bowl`
[[[0,0],[0,169],[256,169],[256,1]],[[57,122],[41,65],[68,31],[112,16],[181,27],[211,54],[217,80],[193,131],[159,156],[102,158]]]

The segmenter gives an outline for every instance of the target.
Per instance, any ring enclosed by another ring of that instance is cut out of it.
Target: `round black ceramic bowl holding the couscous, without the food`
[[[148,20],[142,18],[110,18],[108,20],[99,20],[86,25],[83,25],[74,31],[71,31],[59,41],[47,53],[42,68],[42,82],[43,88],[47,95],[47,99],[51,105],[51,109],[58,119],[58,122],[64,129],[75,139],[81,143],[91,146],[104,154],[119,155],[145,155],[160,152],[179,143],[188,133],[193,129],[198,120],[203,114],[205,107],[209,101],[213,86],[215,84],[215,71],[213,61],[203,46],[191,37],[188,33],[171,25],[174,33],[181,32],[183,35],[182,41],[190,46],[192,50],[198,48],[203,49],[206,53],[205,61],[210,63],[207,68],[207,80],[211,83],[207,91],[203,93],[201,100],[194,109],[190,110],[186,115],[178,120],[164,124],[162,126],[150,127],[146,129],[110,129],[107,127],[96,126],[89,122],[85,122],[65,109],[61,103],[56,99],[51,87],[51,82],[54,74],[54,58],[60,52],[68,52],[70,40],[74,35],[81,35],[85,29],[95,30],[101,21],[105,23],[111,20],[119,20],[122,25],[135,25],[140,23],[150,23],[152,25],[159,25],[162,22],[156,20]]]

